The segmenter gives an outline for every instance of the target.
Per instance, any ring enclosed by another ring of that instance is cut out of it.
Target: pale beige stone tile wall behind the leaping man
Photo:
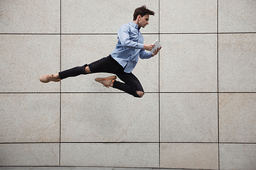
[[[92,74],[38,78],[105,57],[134,8],[163,48],[134,98]],[[254,0],[0,2],[0,166],[256,169]]]

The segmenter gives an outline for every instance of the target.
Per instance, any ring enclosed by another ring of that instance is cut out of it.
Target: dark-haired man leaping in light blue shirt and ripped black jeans
[[[48,83],[49,81],[58,82],[60,79],[76,77],[80,74],[107,72],[116,74],[123,82],[116,81],[116,76],[97,78],[95,81],[100,82],[107,88],[113,87],[134,97],[142,97],[144,95],[142,84],[132,74],[132,70],[136,66],[139,57],[149,59],[157,55],[161,49],[155,50],[154,54],[145,52],[145,50],[150,51],[154,47],[154,45],[144,45],[144,38],[139,31],[140,28],[144,28],[149,24],[149,15],[154,16],[154,11],[150,11],[146,6],[135,9],[133,21],[124,24],[118,30],[117,45],[108,57],[81,67],[74,67],[56,74],[44,75],[40,78],[40,81],[43,83]]]

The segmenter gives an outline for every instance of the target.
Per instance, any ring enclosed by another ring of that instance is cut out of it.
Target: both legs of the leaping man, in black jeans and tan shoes
[[[132,73],[125,73],[123,71],[124,68],[122,68],[122,66],[119,65],[119,63],[115,61],[111,56],[108,56],[102,58],[101,60],[97,60],[96,62],[92,62],[89,65],[85,64],[81,67],[74,67],[72,69],[67,69],[56,74],[44,75],[40,78],[40,81],[43,83],[48,83],[49,81],[60,81],[60,79],[76,77],[80,74],[107,72],[117,74],[119,79],[124,81],[124,83],[115,81],[115,76],[107,77],[106,79],[102,79],[98,82],[104,84],[107,87],[112,86],[115,89],[122,90],[127,94],[131,94],[132,96],[142,97],[144,95],[144,90],[137,77],[135,77]]]

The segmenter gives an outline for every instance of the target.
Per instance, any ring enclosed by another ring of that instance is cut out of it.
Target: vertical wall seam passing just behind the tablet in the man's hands
[[[159,33],[158,33],[158,38],[159,38],[159,42],[160,42],[160,0],[159,0],[159,21],[158,21],[158,23],[159,23]],[[161,127],[161,125],[160,125],[160,51],[159,51],[159,91],[158,91],[158,95],[159,95],[159,168],[161,167],[161,150],[160,150],[160,147],[161,147],[161,145],[160,145],[160,140],[161,140],[161,136],[160,136],[160,133],[161,133],[161,129],[160,129],[160,127]]]

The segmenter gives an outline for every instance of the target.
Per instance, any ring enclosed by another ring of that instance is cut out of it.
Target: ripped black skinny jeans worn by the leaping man
[[[87,74],[85,73],[85,67],[87,66],[89,66],[89,69],[92,73],[106,72],[116,74],[119,79],[124,81],[124,83],[114,81],[113,88],[115,89],[124,91],[134,97],[139,97],[137,91],[144,92],[144,89],[142,88],[142,84],[139,82],[139,79],[137,79],[137,77],[135,77],[132,73],[124,72],[124,68],[116,60],[114,60],[111,55],[97,60],[96,62],[92,62],[89,65],[85,64],[81,67],[74,67],[72,69],[67,69],[63,72],[59,72],[60,79],[65,79],[67,77],[76,77],[80,74]]]

